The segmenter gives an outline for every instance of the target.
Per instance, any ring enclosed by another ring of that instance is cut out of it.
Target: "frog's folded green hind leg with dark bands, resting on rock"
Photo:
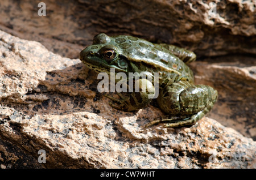
[[[193,125],[212,109],[217,91],[208,85],[180,81],[159,92],[158,105],[171,118],[152,121],[147,126],[166,123],[165,127]]]

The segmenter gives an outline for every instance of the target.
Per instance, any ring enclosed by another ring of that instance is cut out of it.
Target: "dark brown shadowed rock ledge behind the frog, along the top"
[[[1,1],[0,29],[69,58],[101,32],[180,45],[198,57],[255,55],[255,1],[214,2],[46,0],[39,16],[36,1]]]

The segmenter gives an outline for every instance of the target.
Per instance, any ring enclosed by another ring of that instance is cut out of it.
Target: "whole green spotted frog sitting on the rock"
[[[144,72],[152,74],[151,80],[137,79],[139,88],[146,82],[147,91],[122,93],[117,97],[105,95],[109,105],[125,112],[138,111],[151,104],[155,93],[154,73],[158,73],[158,108],[164,115],[150,121],[146,127],[161,123],[164,127],[192,126],[204,117],[217,101],[218,92],[209,85],[195,84],[188,64],[196,60],[196,54],[171,44],[156,44],[143,38],[100,33],[93,38],[92,45],[81,50],[79,59],[96,72],[110,69],[115,73]],[[134,80],[135,81],[135,80]],[[117,83],[117,82],[115,82]]]

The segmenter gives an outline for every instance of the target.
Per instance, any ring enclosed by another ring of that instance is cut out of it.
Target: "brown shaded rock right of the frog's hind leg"
[[[255,58],[248,55],[205,58],[190,67],[197,84],[208,84],[218,90],[218,102],[208,116],[256,140]]]

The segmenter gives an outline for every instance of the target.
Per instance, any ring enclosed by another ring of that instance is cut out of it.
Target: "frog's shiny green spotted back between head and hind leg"
[[[141,38],[123,35],[114,37],[114,41],[122,49],[122,54],[129,61],[142,63],[144,66],[151,68],[152,71],[159,72],[160,75],[175,74],[176,79],[193,82],[191,69],[162,45],[153,44]]]

